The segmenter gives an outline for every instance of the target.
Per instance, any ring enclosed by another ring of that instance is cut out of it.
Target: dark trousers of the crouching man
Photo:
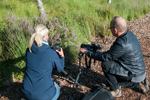
[[[131,88],[134,90],[139,90],[139,83],[131,82],[132,75],[126,77],[126,76],[111,74],[110,69],[115,68],[114,66],[120,66],[120,65],[115,61],[102,62],[103,72],[112,91],[118,89],[119,86],[121,86],[122,88]]]

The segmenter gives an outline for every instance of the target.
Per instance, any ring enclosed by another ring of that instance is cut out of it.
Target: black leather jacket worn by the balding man
[[[90,53],[88,55],[96,60],[106,62],[115,61],[119,66],[111,68],[110,73],[128,76],[130,73],[134,77],[145,73],[145,63],[141,51],[140,43],[136,36],[126,31],[111,46],[110,50],[103,53]]]

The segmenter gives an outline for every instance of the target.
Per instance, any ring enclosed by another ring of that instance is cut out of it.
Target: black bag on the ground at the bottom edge
[[[89,92],[87,92],[82,100],[114,100],[110,91],[108,91],[105,87],[99,86]]]

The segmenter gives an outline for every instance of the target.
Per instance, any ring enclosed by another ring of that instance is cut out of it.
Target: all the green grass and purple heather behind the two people
[[[43,24],[51,29],[50,34],[56,34],[52,36],[51,45],[61,41],[66,52],[70,50],[66,54],[68,59],[77,54],[74,48],[81,43],[89,42],[95,36],[109,36],[108,27],[113,16],[130,21],[150,11],[150,0],[112,0],[111,4],[107,0],[42,1],[49,19]],[[0,15],[0,82],[12,76],[22,79],[29,37],[33,27],[42,23],[37,18],[37,4],[35,0],[0,0]],[[76,45],[68,49],[71,42]]]

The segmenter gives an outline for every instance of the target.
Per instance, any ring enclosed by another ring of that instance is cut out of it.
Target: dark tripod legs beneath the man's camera
[[[97,80],[96,78],[94,78],[94,77],[92,77],[92,76],[90,76],[90,75],[88,75],[88,74],[82,72],[82,69],[81,69],[81,58],[82,58],[82,56],[83,56],[83,53],[80,52],[80,53],[79,53],[79,57],[78,57],[78,59],[79,59],[79,73],[78,73],[77,78],[76,78],[76,80],[75,80],[75,83],[74,83],[74,85],[73,85],[73,90],[72,90],[72,92],[71,92],[71,94],[70,94],[70,96],[69,96],[69,100],[73,100],[72,95],[74,94],[76,85],[78,84],[78,80],[79,80],[81,74],[84,74],[85,76],[90,77],[91,79],[93,79],[93,80],[97,81],[98,83],[100,83],[100,85],[106,87],[106,85],[105,85],[104,83],[102,83],[101,81],[99,81],[99,80]]]

